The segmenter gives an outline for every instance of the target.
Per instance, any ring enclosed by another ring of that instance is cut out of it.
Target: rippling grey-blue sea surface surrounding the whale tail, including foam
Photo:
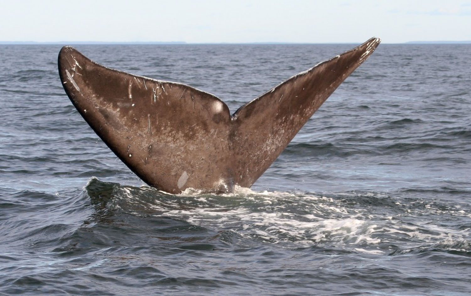
[[[76,48],[235,112],[354,46]],[[0,45],[0,295],[471,295],[470,44],[381,44],[222,195],[139,180],[65,95],[60,48]]]

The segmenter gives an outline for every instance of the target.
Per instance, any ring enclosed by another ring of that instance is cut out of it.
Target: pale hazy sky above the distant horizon
[[[471,0],[0,0],[0,41],[471,40]]]

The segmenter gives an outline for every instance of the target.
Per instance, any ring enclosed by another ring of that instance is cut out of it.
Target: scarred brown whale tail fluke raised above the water
[[[173,194],[220,193],[252,186],[380,41],[289,78],[233,115],[207,92],[113,70],[72,47],[61,49],[58,67],[73,105],[143,181]]]

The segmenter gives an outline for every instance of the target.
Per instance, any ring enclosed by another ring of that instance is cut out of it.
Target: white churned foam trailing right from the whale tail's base
[[[145,209],[146,213],[154,211],[156,216],[176,217],[216,231],[230,229],[239,235],[289,248],[343,246],[365,254],[382,254],[385,243],[420,246],[442,240],[463,240],[468,235],[468,230],[453,230],[420,219],[405,223],[402,216],[420,216],[422,212],[431,210],[435,213],[447,211],[421,200],[392,200],[393,204],[398,205],[396,212],[384,215],[375,213],[369,206],[352,207],[351,202],[355,204],[358,196],[355,192],[338,194],[345,197],[343,200],[338,196],[254,191],[237,187],[234,193],[222,195],[200,194],[187,189],[179,195],[165,194],[161,198],[141,199],[141,193],[151,194],[149,197],[160,193],[146,187],[119,186],[115,189],[116,196],[125,200],[125,208],[132,214]],[[372,203],[389,198],[366,193],[361,195],[362,199],[365,196]],[[114,206],[121,208],[123,203]],[[450,208],[447,213],[469,214],[467,211],[459,213],[456,208]]]

